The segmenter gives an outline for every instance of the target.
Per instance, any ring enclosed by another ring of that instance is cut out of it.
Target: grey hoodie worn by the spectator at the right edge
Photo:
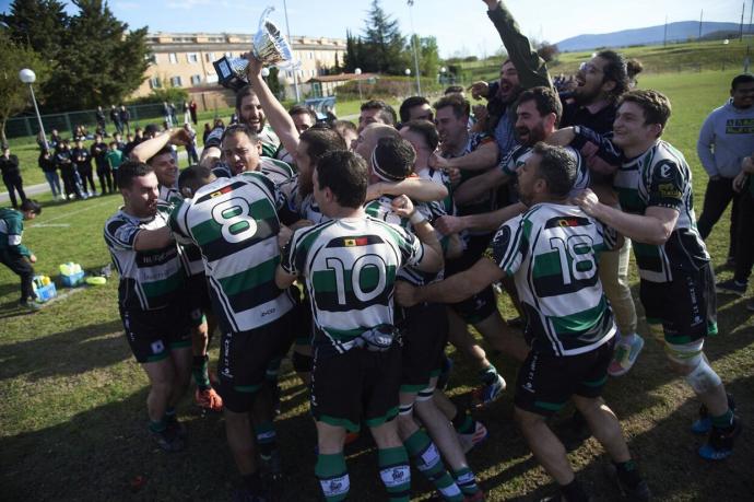
[[[729,100],[712,110],[702,125],[696,153],[710,177],[735,177],[743,157],[754,153],[754,106],[737,108]]]

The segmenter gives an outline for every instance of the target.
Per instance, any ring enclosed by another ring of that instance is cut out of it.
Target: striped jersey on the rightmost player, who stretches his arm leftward
[[[658,140],[636,159],[624,162],[613,186],[621,208],[644,214],[657,206],[679,211],[670,238],[662,246],[633,242],[639,277],[650,282],[672,282],[673,269],[698,270],[709,254],[696,230],[692,172],[683,154]]]

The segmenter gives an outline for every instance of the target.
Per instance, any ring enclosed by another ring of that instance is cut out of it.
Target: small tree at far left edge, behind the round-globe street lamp
[[[5,121],[30,106],[32,101],[28,86],[19,79],[19,71],[32,68],[37,75],[34,84],[37,100],[44,98],[39,92],[50,74],[50,65],[31,47],[14,43],[0,31],[0,142],[7,143]]]

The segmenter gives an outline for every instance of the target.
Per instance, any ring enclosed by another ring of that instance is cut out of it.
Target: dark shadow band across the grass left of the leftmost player
[[[0,378],[36,381],[85,373],[131,357],[120,319],[3,346]]]

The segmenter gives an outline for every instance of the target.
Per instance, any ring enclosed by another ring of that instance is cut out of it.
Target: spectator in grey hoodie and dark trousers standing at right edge
[[[707,238],[732,200],[728,247],[728,265],[732,266],[735,264],[739,213],[733,179],[741,173],[741,162],[754,147],[754,75],[740,74],[730,86],[730,100],[709,114],[702,125],[696,152],[709,175],[697,222],[699,235]]]

